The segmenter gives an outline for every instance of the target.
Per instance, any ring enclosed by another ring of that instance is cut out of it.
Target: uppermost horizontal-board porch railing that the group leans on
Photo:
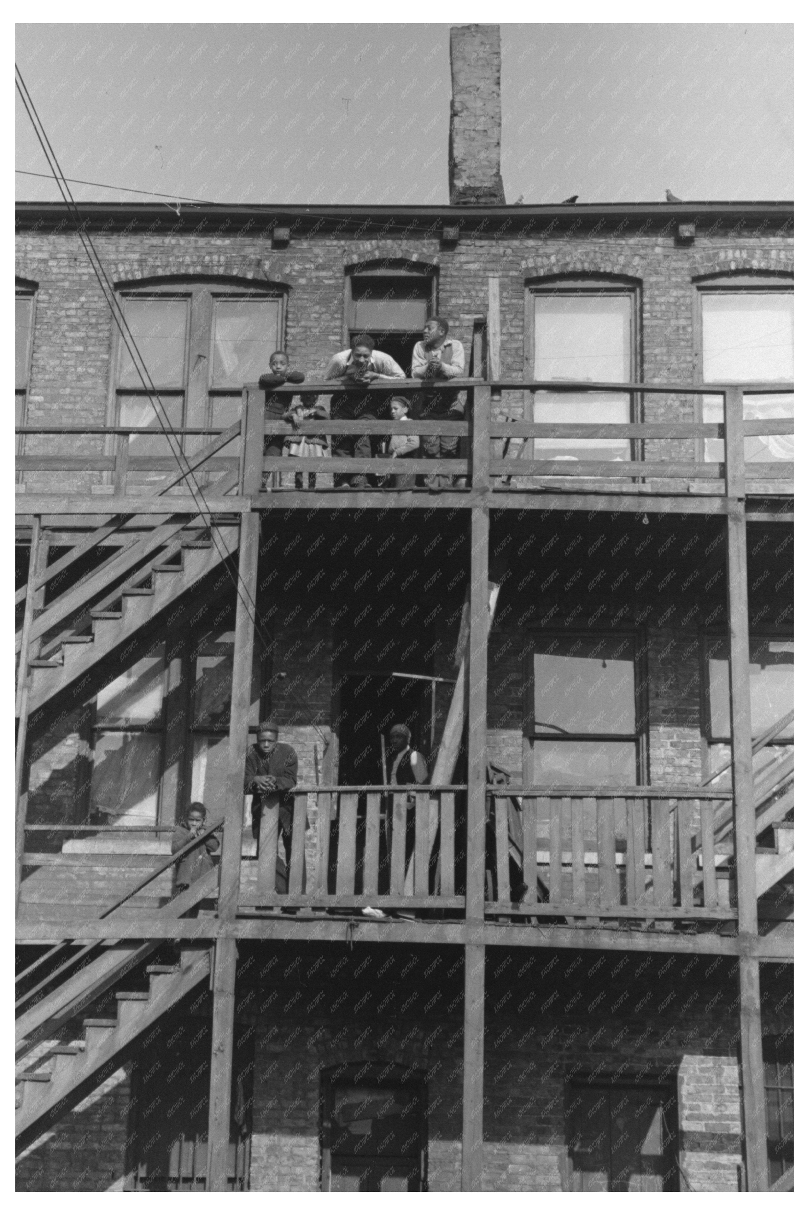
[[[298,428],[294,428],[283,420],[272,419],[265,423],[266,435],[339,436],[367,434],[375,436],[390,436],[395,434],[436,435],[452,433],[458,436],[471,437],[474,440],[476,430],[482,433],[482,430],[486,429],[487,441],[483,445],[486,447],[486,452],[482,451],[481,445],[476,445],[473,441],[469,445],[469,453],[465,458],[430,460],[428,468],[425,468],[425,464],[420,459],[391,460],[387,458],[375,458],[372,460],[361,460],[349,457],[332,459],[330,452],[323,457],[313,456],[305,459],[295,459],[293,462],[285,457],[266,457],[264,460],[264,469],[266,473],[356,474],[364,476],[374,474],[377,476],[386,476],[389,474],[425,475],[429,470],[431,473],[452,475],[463,480],[464,484],[466,481],[476,484],[474,477],[475,470],[480,460],[482,460],[483,456],[486,456],[486,484],[500,487],[504,479],[505,484],[510,484],[513,477],[530,477],[532,480],[564,477],[567,481],[571,477],[578,477],[590,479],[592,484],[594,479],[606,481],[609,485],[612,485],[616,481],[643,482],[647,492],[666,492],[666,482],[671,481],[698,481],[707,492],[715,487],[715,491],[720,493],[724,492],[728,469],[722,462],[703,460],[700,457],[700,447],[706,440],[724,440],[724,423],[700,423],[689,419],[684,420],[681,417],[672,417],[671,419],[656,422],[635,420],[627,423],[538,423],[532,420],[498,420],[497,414],[500,412],[503,392],[522,391],[534,395],[537,392],[550,391],[556,395],[577,394],[579,396],[587,395],[588,392],[618,394],[622,396],[630,396],[635,402],[635,412],[643,413],[643,400],[661,394],[666,396],[675,396],[680,400],[692,400],[694,397],[702,396],[712,396],[714,399],[724,397],[726,406],[732,400],[732,407],[741,409],[742,397],[757,395],[779,396],[788,395],[793,391],[791,384],[596,384],[588,382],[519,379],[480,380],[474,378],[462,378],[449,382],[431,383],[426,390],[422,380],[402,379],[375,382],[362,385],[357,389],[346,388],[345,385],[335,384],[334,382],[312,382],[306,385],[282,384],[273,389],[273,394],[281,396],[282,399],[289,399],[292,403],[293,397],[300,394],[301,389],[306,392],[328,396],[333,396],[335,394],[343,395],[345,392],[361,392],[363,396],[369,397],[369,401],[372,402],[372,406],[369,406],[370,412],[375,411],[378,413],[384,409],[386,400],[391,396],[406,395],[414,402],[414,417],[407,423],[395,423],[383,418],[313,418],[302,422]],[[468,391],[468,399],[470,402],[470,407],[468,408],[469,420],[431,420],[418,418],[415,416],[418,414],[418,401],[425,391],[429,391],[430,394],[445,392],[452,395],[458,391]],[[247,399],[262,401],[264,390],[259,389],[255,384],[245,385],[244,400]],[[245,414],[247,409],[243,408],[243,417]],[[483,428],[483,419],[487,423],[486,428]],[[241,462],[243,467],[244,445],[247,443],[248,434],[248,428],[244,424],[236,423],[234,426],[231,426],[227,431],[219,433],[215,428],[180,428],[175,431],[175,434],[180,442],[185,442],[185,436],[203,434],[214,436],[211,443],[209,443],[209,451],[205,456],[205,460],[202,462],[205,464],[207,475],[209,471],[217,469],[220,471],[232,471],[237,468],[236,457],[217,457],[210,448],[216,447],[217,451],[221,450],[226,442],[232,441],[239,435],[239,429],[242,443]],[[793,433],[793,420],[791,418],[746,419],[743,422],[743,433],[746,436],[751,437],[791,435]],[[170,473],[176,468],[177,463],[175,456],[168,452],[164,456],[135,456],[131,453],[131,441],[136,441],[137,436],[142,437],[145,434],[162,435],[163,431],[157,428],[22,426],[18,429],[18,434],[40,437],[52,435],[55,440],[58,440],[55,442],[52,451],[36,453],[26,452],[19,456],[19,470],[24,473],[86,471],[106,474],[112,476],[115,496],[126,495],[128,479],[132,474],[143,474],[146,471]],[[60,447],[60,442],[63,442],[63,436],[79,434],[103,435],[113,439],[115,445],[114,453],[102,456],[81,453],[66,454]],[[584,451],[582,452],[582,458],[578,459],[554,459],[548,458],[547,456],[543,457],[542,454],[537,454],[537,457],[533,458],[531,454],[532,441],[554,439],[627,441],[633,445],[632,458],[604,459],[604,456],[601,454],[601,458],[588,459]],[[493,440],[498,445],[500,441],[503,442],[504,446],[499,454],[494,456],[493,452],[490,453],[490,440]],[[520,440],[520,443],[519,446],[515,446],[514,450],[510,450],[513,440]],[[680,451],[679,456],[675,454],[675,458],[667,459],[664,453],[661,454],[658,450],[655,451],[651,458],[646,458],[646,442],[654,441],[656,443],[661,443],[667,440],[680,440],[680,442],[683,440],[692,440],[695,445],[694,458],[681,458]],[[192,463],[196,463],[197,467],[199,465],[198,454],[191,456],[188,459]],[[788,460],[747,463],[745,465],[743,476],[747,481],[776,482],[779,486],[783,486],[786,491],[787,484],[791,482],[793,477],[793,464]],[[130,488],[141,490],[142,487],[130,486]],[[616,490],[620,486],[616,486]]]

